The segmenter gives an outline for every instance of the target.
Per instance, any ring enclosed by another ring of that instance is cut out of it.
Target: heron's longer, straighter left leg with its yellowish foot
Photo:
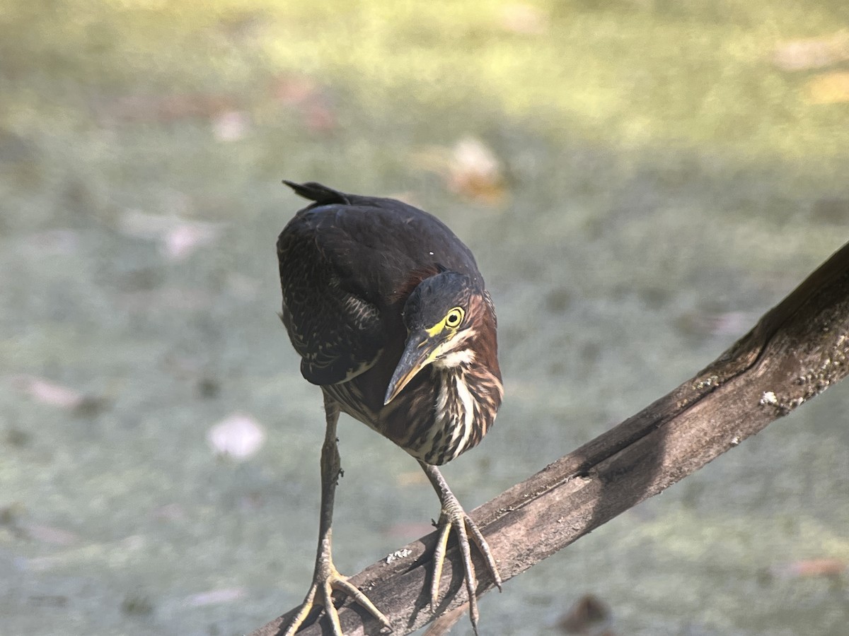
[[[315,605],[322,605],[324,613],[327,614],[330,628],[334,636],[342,636],[342,628],[339,622],[339,614],[333,603],[333,591],[338,589],[351,596],[351,598],[362,605],[385,627],[391,629],[391,624],[380,610],[368,600],[356,586],[348,582],[333,565],[330,555],[330,525],[333,522],[333,500],[336,491],[336,483],[340,476],[339,449],[336,446],[336,422],[339,421],[339,406],[326,395],[324,396],[324,411],[327,416],[327,432],[324,436],[324,445],[321,449],[321,513],[318,522],[318,552],[316,553],[316,567],[312,575],[312,586],[306,593],[301,610],[290,622],[289,628],[284,636],[293,636],[306,616]]]

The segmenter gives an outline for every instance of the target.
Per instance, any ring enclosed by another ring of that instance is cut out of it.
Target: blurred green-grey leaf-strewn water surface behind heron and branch
[[[282,178],[475,251],[506,401],[445,470],[471,509],[846,241],[847,122],[843,0],[0,0],[0,633],[237,634],[301,601],[323,416],[275,315]],[[847,410],[841,384],[488,594],[481,633],[565,633],[594,594],[595,633],[845,635]],[[363,425],[340,452],[352,574],[438,510]]]

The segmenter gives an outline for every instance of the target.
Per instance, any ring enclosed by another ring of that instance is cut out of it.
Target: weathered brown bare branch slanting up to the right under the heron
[[[619,426],[474,510],[504,580],[660,493],[841,380],[849,371],[849,244],[834,254],[704,371]],[[434,534],[369,566],[352,583],[410,633],[465,601],[456,546],[448,551],[441,606],[428,604]],[[475,559],[478,594],[492,589]],[[250,636],[277,634],[294,611]],[[346,600],[346,634],[380,624]],[[300,634],[323,632],[323,620]],[[329,632],[327,632],[329,633]]]

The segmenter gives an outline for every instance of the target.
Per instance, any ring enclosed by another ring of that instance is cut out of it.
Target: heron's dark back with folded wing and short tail
[[[346,382],[402,347],[401,308],[426,272],[458,271],[483,287],[469,248],[436,217],[391,198],[287,184],[316,202],[278,238],[281,316],[309,382]]]

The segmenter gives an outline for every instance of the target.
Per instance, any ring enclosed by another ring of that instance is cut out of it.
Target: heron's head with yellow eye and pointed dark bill
[[[482,320],[487,312],[492,314],[492,324]],[[470,364],[480,353],[475,351],[481,342],[476,338],[480,330],[491,329],[493,336],[495,330],[492,301],[486,292],[469,276],[455,271],[442,271],[420,282],[404,304],[403,321],[407,342],[384,404],[395,399],[427,365],[453,368]]]

